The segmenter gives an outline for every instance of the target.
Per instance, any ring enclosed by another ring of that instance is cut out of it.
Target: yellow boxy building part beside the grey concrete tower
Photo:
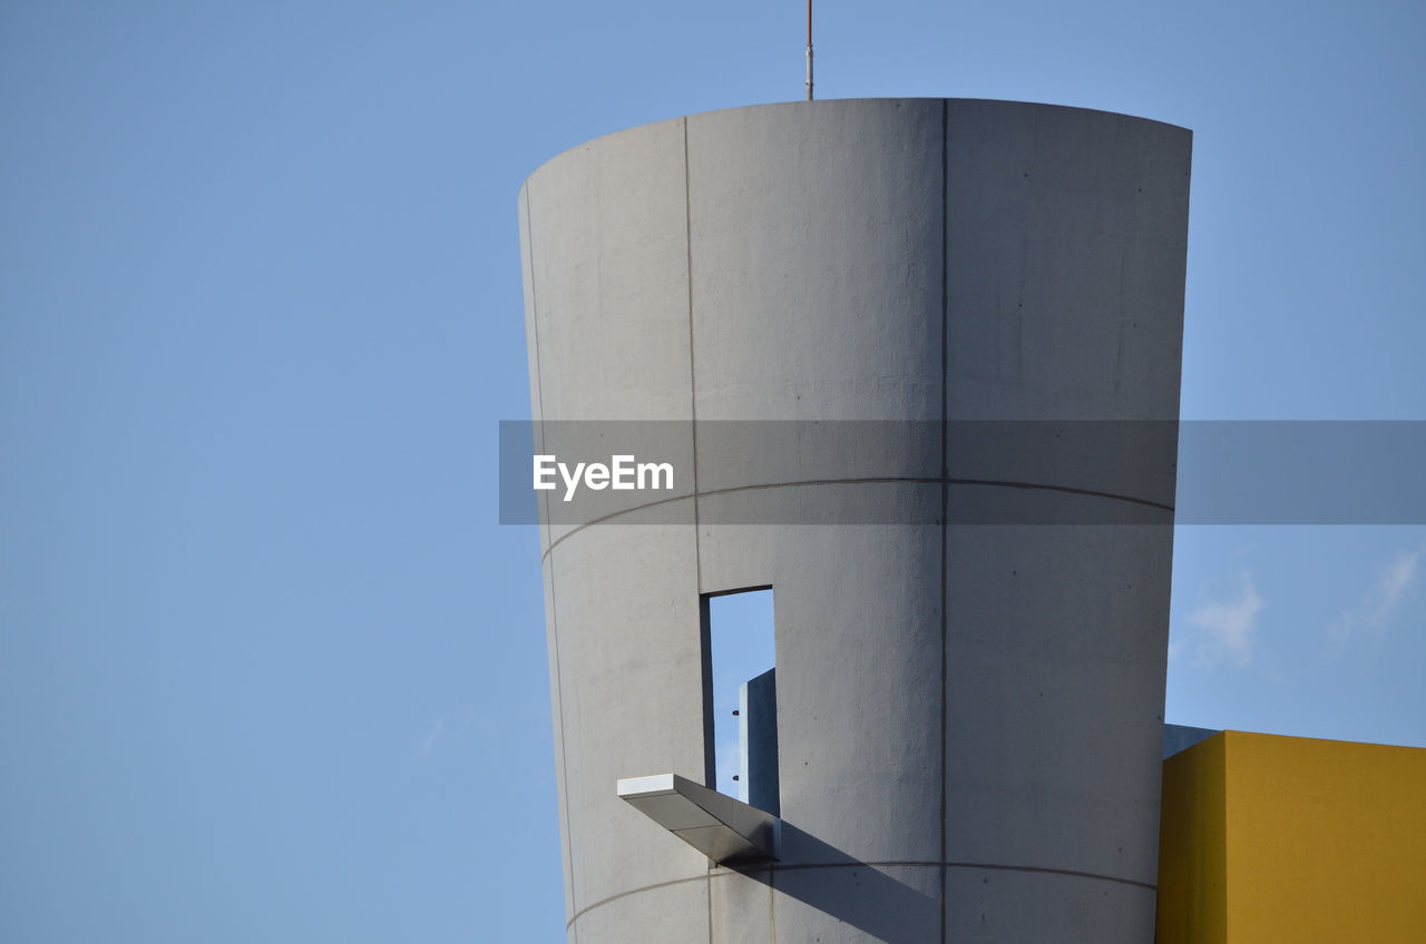
[[[1164,800],[1159,944],[1426,941],[1426,750],[1225,732]]]

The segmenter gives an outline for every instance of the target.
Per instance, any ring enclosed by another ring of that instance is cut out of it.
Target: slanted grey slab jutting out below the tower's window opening
[[[777,858],[781,821],[676,773],[627,777],[619,797],[714,863]]]

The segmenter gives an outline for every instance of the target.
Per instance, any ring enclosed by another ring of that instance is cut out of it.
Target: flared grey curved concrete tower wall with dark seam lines
[[[1074,108],[817,101],[612,134],[526,181],[535,418],[679,421],[696,468],[663,506],[696,525],[542,526],[572,941],[1152,938],[1171,513],[947,512],[1172,503],[1172,435],[1068,482],[954,431],[1176,421],[1189,143]],[[693,419],[920,425],[760,488]],[[927,523],[799,523],[871,491]],[[769,523],[722,523],[733,501]],[[615,781],[703,779],[700,595],[763,585],[783,851],[710,867]]]

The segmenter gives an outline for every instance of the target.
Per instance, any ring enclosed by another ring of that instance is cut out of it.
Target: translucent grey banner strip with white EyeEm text
[[[1420,421],[501,424],[501,523],[1420,525]]]

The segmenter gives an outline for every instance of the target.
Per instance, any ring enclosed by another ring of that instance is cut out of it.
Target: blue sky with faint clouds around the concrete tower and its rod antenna
[[[803,6],[0,6],[0,940],[563,940],[515,198]],[[1426,6],[821,3],[1195,131],[1186,418],[1426,419]],[[1426,744],[1426,529],[1184,528],[1169,719]]]

